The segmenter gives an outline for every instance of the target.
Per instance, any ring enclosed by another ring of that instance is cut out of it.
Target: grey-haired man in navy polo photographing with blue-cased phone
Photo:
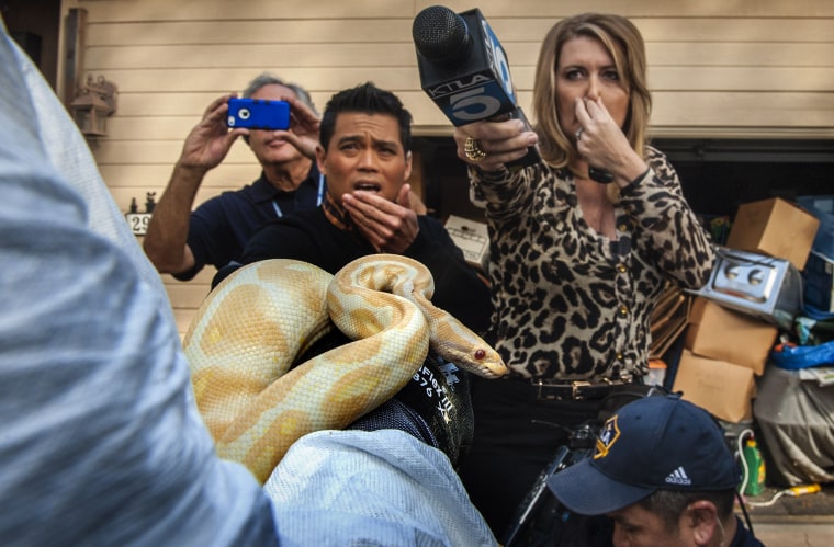
[[[291,109],[315,107],[300,86],[262,73],[244,96],[281,100]],[[188,281],[206,264],[222,267],[240,258],[251,235],[267,220],[322,203],[325,180],[316,168],[318,127],[293,116],[289,130],[229,129],[228,99],[217,98],[191,130],[148,225],[144,249],[160,273]],[[206,173],[217,167],[244,136],[262,172],[252,184],[224,192],[192,213]]]

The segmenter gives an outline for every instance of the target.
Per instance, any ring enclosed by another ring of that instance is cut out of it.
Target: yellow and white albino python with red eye
[[[301,436],[342,429],[402,389],[429,346],[481,376],[505,374],[495,350],[431,304],[433,289],[426,266],[394,254],[360,258],[336,275],[266,260],[224,280],[183,339],[221,457],[264,482]],[[353,341],[291,369],[334,323]]]

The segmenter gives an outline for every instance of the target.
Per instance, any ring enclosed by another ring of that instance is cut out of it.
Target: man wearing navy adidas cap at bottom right
[[[712,417],[669,395],[623,406],[548,487],[574,513],[610,517],[615,546],[760,546],[733,514],[740,479]]]

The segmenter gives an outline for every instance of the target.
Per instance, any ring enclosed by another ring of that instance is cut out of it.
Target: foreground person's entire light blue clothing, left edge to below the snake
[[[0,126],[14,128],[0,135],[1,275],[14,287],[0,310],[4,544],[494,545],[448,458],[403,432],[302,438],[280,495],[219,459],[158,275],[1,21],[0,67]],[[352,495],[323,506],[338,483]],[[384,511],[356,512],[372,505]],[[428,524],[433,508],[459,526]]]

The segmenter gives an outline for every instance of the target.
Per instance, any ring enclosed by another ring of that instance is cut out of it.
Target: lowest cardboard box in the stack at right
[[[746,366],[699,357],[684,350],[672,390],[681,391],[684,399],[726,422],[753,418],[756,383]]]

